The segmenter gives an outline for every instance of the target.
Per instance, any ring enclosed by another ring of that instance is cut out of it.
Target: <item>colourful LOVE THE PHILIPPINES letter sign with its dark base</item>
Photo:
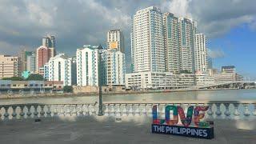
[[[204,122],[205,112],[209,106],[190,106],[185,115],[181,106],[166,106],[165,119],[158,119],[158,106],[153,106],[153,123],[151,125],[152,133],[171,134],[193,138],[214,138],[214,126],[210,122]],[[170,119],[170,111],[173,113]],[[200,113],[201,112],[201,113]],[[178,124],[178,116],[182,124]],[[193,118],[193,124],[192,124]]]

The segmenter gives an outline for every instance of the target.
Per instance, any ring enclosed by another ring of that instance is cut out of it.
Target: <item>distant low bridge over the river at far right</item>
[[[218,88],[234,88],[234,89],[248,89],[256,87],[256,82],[238,81],[238,82],[223,82],[214,85],[197,86],[198,89],[218,89]]]

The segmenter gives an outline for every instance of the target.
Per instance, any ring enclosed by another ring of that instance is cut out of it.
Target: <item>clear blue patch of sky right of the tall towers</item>
[[[223,55],[214,58],[214,67],[234,65],[238,73],[256,78],[256,31],[249,26],[234,27],[219,38],[209,39],[211,50],[222,50]]]

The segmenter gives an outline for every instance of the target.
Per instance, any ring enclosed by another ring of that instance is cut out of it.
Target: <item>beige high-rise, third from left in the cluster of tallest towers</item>
[[[194,73],[194,34],[195,22],[188,18],[179,18],[179,46],[181,72]]]

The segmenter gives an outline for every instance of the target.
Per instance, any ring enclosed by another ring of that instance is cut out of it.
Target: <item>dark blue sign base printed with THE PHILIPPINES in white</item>
[[[154,134],[179,135],[190,138],[214,138],[214,127],[169,126],[152,124],[151,132]]]

